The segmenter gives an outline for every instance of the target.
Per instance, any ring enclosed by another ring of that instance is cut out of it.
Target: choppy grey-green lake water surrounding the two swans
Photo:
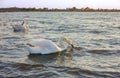
[[[120,12],[0,13],[0,78],[119,78]],[[30,30],[13,32],[25,20]],[[29,55],[34,38],[67,37],[68,52]]]

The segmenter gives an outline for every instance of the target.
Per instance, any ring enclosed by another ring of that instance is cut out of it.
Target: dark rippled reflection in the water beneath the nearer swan
[[[48,65],[64,65],[72,60],[73,48],[63,52],[48,54],[48,55],[28,55],[28,59],[33,63],[42,63]]]

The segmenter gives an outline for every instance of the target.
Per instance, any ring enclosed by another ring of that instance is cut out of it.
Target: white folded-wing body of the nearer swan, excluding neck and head
[[[34,47],[29,46],[29,51],[31,52],[31,54],[50,54],[62,51],[62,49],[51,40],[33,39],[32,41],[30,41],[30,44],[34,45]]]

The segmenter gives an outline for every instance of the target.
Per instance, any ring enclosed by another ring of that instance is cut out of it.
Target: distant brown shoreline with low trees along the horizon
[[[93,9],[93,8],[66,8],[66,9],[48,9],[48,8],[17,8],[17,7],[11,7],[11,8],[0,8],[0,12],[120,12],[120,9]]]

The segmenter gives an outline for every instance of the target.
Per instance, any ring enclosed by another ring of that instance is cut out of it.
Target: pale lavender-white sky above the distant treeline
[[[120,9],[120,0],[0,0],[0,8],[8,7]]]

